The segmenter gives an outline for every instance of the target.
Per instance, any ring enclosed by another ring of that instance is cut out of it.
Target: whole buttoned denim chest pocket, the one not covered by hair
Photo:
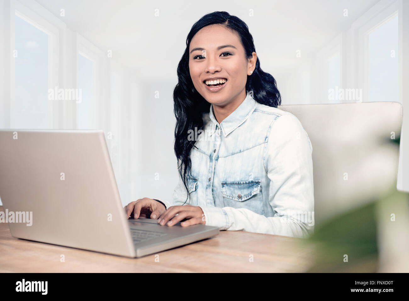
[[[225,181],[221,184],[225,207],[246,208],[264,215],[260,180]]]

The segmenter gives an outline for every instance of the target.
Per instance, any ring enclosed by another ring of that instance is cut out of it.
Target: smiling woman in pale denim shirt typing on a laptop
[[[173,202],[138,199],[129,217],[293,237],[313,231],[312,147],[298,118],[277,109],[247,25],[225,11],[196,22],[173,92],[179,184]]]

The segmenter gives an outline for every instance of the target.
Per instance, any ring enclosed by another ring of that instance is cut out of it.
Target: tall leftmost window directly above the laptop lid
[[[19,16],[16,21],[16,102],[13,128],[49,128],[49,36]]]

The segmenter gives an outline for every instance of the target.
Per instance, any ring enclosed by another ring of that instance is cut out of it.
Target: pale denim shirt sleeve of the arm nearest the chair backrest
[[[280,115],[267,132],[263,164],[270,179],[273,217],[245,208],[200,206],[206,225],[220,230],[249,231],[307,238],[314,231],[312,146],[293,114]]]

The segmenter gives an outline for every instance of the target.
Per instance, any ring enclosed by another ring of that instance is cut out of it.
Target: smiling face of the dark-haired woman
[[[255,54],[248,60],[240,38],[229,29],[221,25],[203,27],[193,36],[189,47],[193,85],[209,103],[225,106],[246,95],[247,75],[255,68]],[[227,81],[220,88],[208,87],[205,81],[213,78]]]

